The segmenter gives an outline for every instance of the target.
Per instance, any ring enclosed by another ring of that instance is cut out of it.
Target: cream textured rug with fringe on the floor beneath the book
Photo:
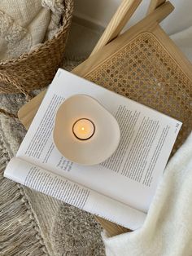
[[[65,60],[68,70],[80,60]],[[0,95],[0,107],[16,113],[22,95]],[[102,228],[93,215],[2,177],[26,131],[20,121],[0,118],[0,255],[103,256]]]

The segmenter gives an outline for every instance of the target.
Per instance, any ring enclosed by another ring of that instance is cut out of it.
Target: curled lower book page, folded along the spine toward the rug
[[[146,218],[146,214],[134,210],[129,205],[114,201],[62,176],[29,164],[18,157],[11,159],[5,176],[28,188],[53,196],[132,230],[141,227]]]

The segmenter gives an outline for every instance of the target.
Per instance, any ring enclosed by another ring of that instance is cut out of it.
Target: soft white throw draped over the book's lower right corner
[[[103,241],[107,256],[192,255],[192,134],[169,161],[143,227]]]

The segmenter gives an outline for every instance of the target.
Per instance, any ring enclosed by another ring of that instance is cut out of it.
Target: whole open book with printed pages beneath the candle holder
[[[90,95],[120,125],[116,152],[97,166],[65,159],[52,138],[63,100]],[[142,226],[181,122],[59,69],[5,177],[130,229]]]

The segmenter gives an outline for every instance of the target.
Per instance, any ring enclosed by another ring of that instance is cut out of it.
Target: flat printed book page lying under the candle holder
[[[120,125],[119,147],[97,166],[68,161],[53,142],[56,110],[76,94],[97,99]],[[180,121],[59,69],[17,157],[146,213],[180,128]]]

